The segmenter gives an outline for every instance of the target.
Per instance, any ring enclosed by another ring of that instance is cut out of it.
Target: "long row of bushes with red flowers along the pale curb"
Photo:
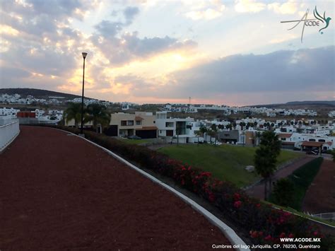
[[[78,129],[57,128],[78,134]],[[245,233],[249,234],[255,244],[280,243],[279,238],[283,237],[322,238],[324,248],[334,244],[331,238],[322,235],[319,228],[307,219],[274,209],[270,204],[251,198],[232,183],[211,177],[211,173],[185,165],[144,146],[124,144],[95,132],[85,132],[85,136],[86,139],[136,162],[140,167],[172,178],[180,187],[206,199],[220,209],[225,218],[245,229]]]

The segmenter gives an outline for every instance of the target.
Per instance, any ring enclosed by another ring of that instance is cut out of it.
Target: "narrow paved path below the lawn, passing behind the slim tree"
[[[305,163],[310,162],[313,157],[305,156],[304,158],[295,161],[294,163],[288,165],[286,168],[282,168],[281,170],[278,170],[274,177],[272,178],[272,181],[276,181],[278,179],[281,179],[282,177],[287,177],[291,173],[293,173],[294,170],[300,168],[300,166],[305,165]],[[258,198],[258,199],[264,199],[264,182],[259,182],[258,185],[255,185],[253,187],[250,187],[245,192],[249,194],[252,197]]]

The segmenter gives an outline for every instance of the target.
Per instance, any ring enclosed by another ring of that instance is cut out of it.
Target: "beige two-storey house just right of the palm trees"
[[[111,114],[110,127],[105,134],[122,137],[136,135],[142,139],[153,139],[157,138],[157,129],[152,112],[117,112]]]

